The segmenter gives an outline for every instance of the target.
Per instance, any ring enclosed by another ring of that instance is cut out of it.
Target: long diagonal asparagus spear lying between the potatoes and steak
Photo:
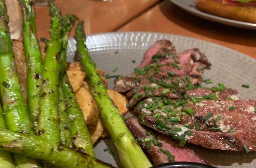
[[[99,107],[99,111],[108,133],[113,140],[121,163],[124,167],[147,168],[151,167],[146,155],[140,145],[125,126],[117,107],[108,96],[105,84],[96,70],[95,63],[91,60],[84,41],[83,22],[79,22],[76,28],[76,49],[81,58],[82,68],[87,75],[87,80],[91,87],[91,93]]]

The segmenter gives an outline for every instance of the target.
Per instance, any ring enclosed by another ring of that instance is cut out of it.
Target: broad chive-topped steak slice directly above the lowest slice
[[[174,117],[169,119],[165,117],[166,114],[160,114],[160,111],[157,114],[158,116],[162,115],[162,117],[157,117],[156,113],[152,114],[147,109],[141,109],[138,118],[146,126],[158,132],[173,135],[173,138],[176,139],[183,136],[189,143],[206,148],[241,151],[244,150],[244,145],[246,145],[249,151],[256,151],[255,101],[237,100],[219,101],[217,103],[204,101],[204,103],[204,107],[189,107],[189,109],[193,108],[194,115],[181,115],[178,112],[177,116],[179,116],[180,121],[176,123],[172,120]],[[230,105],[235,106],[233,111],[227,110]],[[206,120],[205,117],[210,112],[212,117]],[[214,121],[218,116],[221,118]],[[161,123],[162,127],[160,127],[159,123]],[[198,129],[195,123],[198,124]],[[190,131],[192,134],[184,137],[182,134],[186,131]]]

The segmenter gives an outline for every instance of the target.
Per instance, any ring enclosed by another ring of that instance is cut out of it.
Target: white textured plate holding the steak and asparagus
[[[206,70],[204,74],[205,78],[211,78],[214,84],[223,82],[228,87],[239,90],[241,98],[256,100],[256,59],[220,45],[185,36],[146,32],[95,34],[87,37],[86,44],[90,56],[98,68],[110,75],[127,75],[138,66],[145,50],[160,39],[173,42],[178,52],[188,48],[199,48],[212,63],[211,70]],[[73,62],[75,50],[76,41],[71,38],[67,49],[68,62]],[[132,60],[135,60],[136,63],[132,63]],[[113,73],[112,71],[116,67],[117,71]],[[241,87],[242,84],[250,84],[250,88],[243,88]],[[109,80],[109,88],[113,88],[113,79]],[[103,151],[106,146],[114,151],[114,157]],[[201,157],[220,168],[256,167],[256,152],[244,154],[244,152],[210,150],[193,145],[189,146],[192,146]],[[95,152],[96,157],[100,160],[109,162],[114,166],[121,166],[117,151],[110,139],[98,142],[95,146]]]

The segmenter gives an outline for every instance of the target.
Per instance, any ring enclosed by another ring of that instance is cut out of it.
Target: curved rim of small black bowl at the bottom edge
[[[152,166],[151,168],[216,168],[211,165],[205,165],[196,162],[170,162]]]

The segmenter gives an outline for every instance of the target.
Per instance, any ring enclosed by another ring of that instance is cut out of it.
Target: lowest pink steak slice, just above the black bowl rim
[[[128,119],[126,121],[126,125],[128,126],[131,133],[134,135],[134,137],[138,140],[143,150],[148,154],[154,165],[170,162],[170,158],[174,158],[173,161],[176,162],[185,161],[198,162],[204,164],[207,163],[201,157],[199,157],[198,154],[196,154],[194,151],[186,147],[178,146],[177,142],[175,142],[175,140],[172,140],[169,137],[160,134],[155,134],[154,132],[151,132],[149,135],[146,135],[146,132],[150,131],[141,126],[136,118]],[[149,138],[151,141],[145,142],[145,138]],[[158,146],[154,145],[152,141],[155,141],[155,144],[158,144]],[[174,157],[170,157],[168,159],[169,156],[166,153],[163,153],[163,151],[169,151],[170,154],[172,154]]]

